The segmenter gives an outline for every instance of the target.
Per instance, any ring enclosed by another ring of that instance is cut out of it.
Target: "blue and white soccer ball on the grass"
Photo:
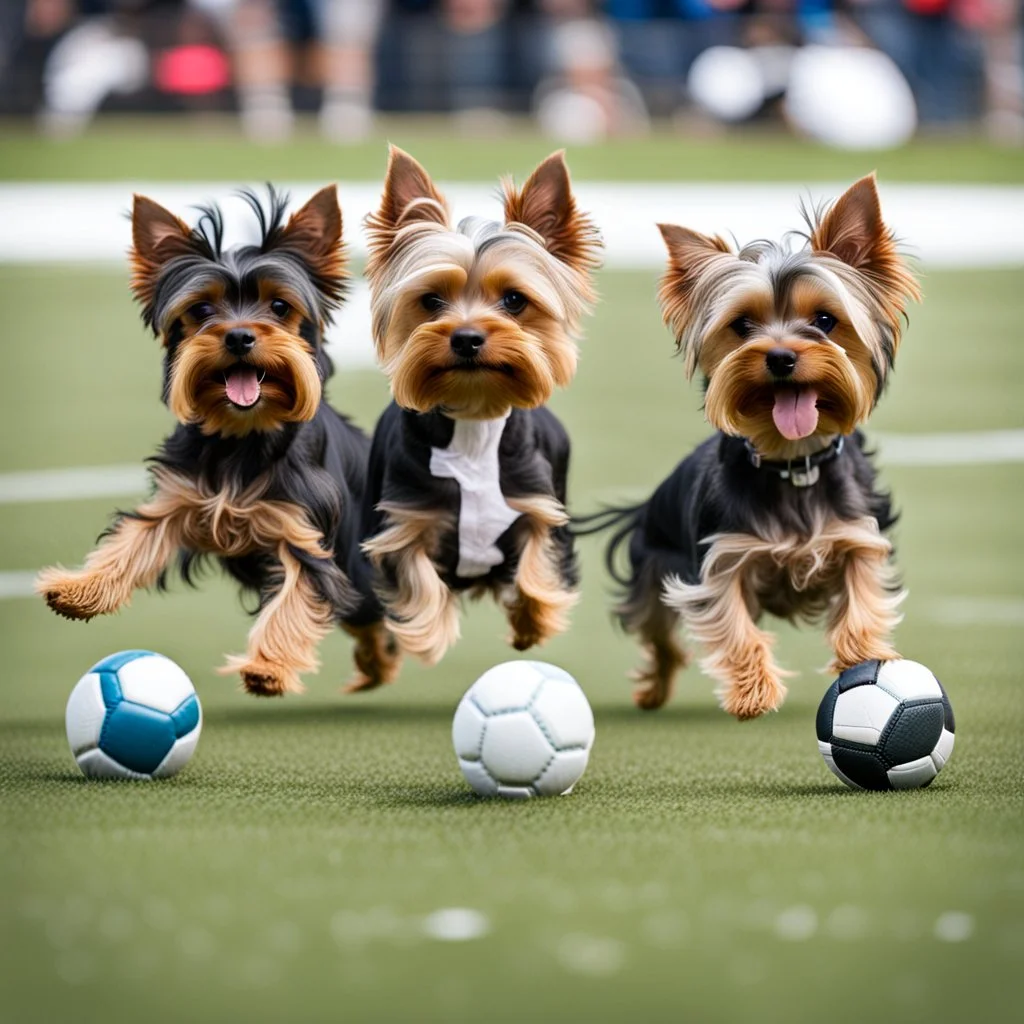
[[[203,711],[191,680],[169,657],[123,650],[78,681],[65,725],[90,778],[167,778],[195,753]]]

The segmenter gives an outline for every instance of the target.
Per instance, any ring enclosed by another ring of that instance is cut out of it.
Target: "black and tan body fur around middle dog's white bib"
[[[497,541],[503,560],[482,575],[457,573],[459,483],[430,472],[431,450],[446,447],[454,430],[455,421],[440,412],[414,413],[392,402],[374,432],[364,502],[365,549],[384,604],[395,632],[428,662],[459,637],[457,594],[489,592],[504,600],[518,580],[527,599],[560,609],[545,612],[553,616],[542,624],[547,636],[565,628],[579,580],[564,512],[569,439],[543,407],[513,409],[502,434],[502,494],[523,513]]]

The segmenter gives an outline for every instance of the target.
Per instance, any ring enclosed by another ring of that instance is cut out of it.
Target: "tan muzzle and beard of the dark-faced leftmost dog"
[[[199,334],[175,355],[168,404],[179,422],[198,424],[205,434],[238,437],[311,420],[322,391],[301,338],[261,329],[252,351],[238,358],[222,338]]]

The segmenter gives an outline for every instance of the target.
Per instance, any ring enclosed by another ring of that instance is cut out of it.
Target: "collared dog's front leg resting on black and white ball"
[[[892,637],[903,617],[901,590],[890,562],[892,547],[878,528],[850,530],[843,586],[828,610],[827,641],[836,652],[829,665],[842,672],[859,662],[899,657]]]

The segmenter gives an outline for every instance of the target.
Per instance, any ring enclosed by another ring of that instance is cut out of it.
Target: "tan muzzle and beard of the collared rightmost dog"
[[[782,380],[766,369],[765,356],[773,347],[773,342],[751,342],[714,368],[705,396],[713,426],[748,438],[762,455],[787,458],[801,441],[848,434],[870,415],[878,382],[841,346],[786,346],[798,361],[793,376]]]

